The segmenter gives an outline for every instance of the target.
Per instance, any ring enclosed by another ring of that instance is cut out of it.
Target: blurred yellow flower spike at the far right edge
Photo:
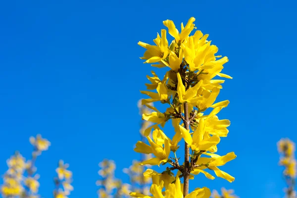
[[[296,179],[295,144],[290,139],[281,139],[278,143],[278,151],[281,154],[279,164],[285,167],[284,178],[288,185],[286,194],[288,198],[295,198],[294,191]]]

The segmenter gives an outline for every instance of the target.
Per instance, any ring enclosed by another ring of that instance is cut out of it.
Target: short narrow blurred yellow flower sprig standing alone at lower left
[[[57,177],[54,178],[55,190],[53,191],[54,198],[68,198],[73,191],[72,172],[68,170],[69,164],[64,164],[63,160],[59,160],[56,168]]]

